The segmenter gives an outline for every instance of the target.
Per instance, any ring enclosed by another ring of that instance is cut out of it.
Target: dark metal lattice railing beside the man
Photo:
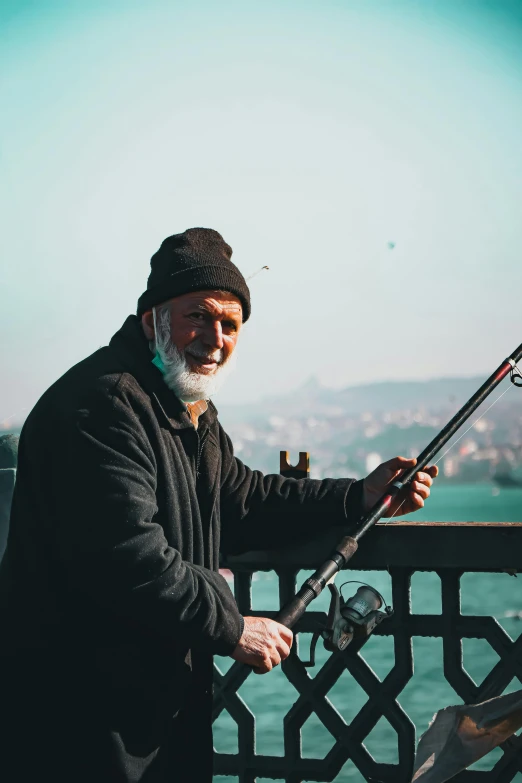
[[[252,574],[260,570],[275,570],[282,605],[295,593],[298,572],[315,568],[338,538],[339,531],[330,531],[321,539],[295,550],[254,552],[230,558],[224,565],[234,573],[240,611],[244,615],[273,616],[273,609],[252,609]],[[298,697],[284,716],[284,755],[277,756],[256,753],[255,716],[238,694],[249,676],[248,670],[234,664],[226,674],[222,674],[216,667],[214,719],[226,710],[238,727],[238,752],[215,753],[217,775],[230,776],[240,783],[252,783],[258,778],[284,780],[286,783],[349,781],[349,776],[343,777],[343,769],[349,762],[369,783],[409,783],[416,742],[415,725],[399,704],[398,697],[413,675],[414,637],[439,637],[442,640],[444,677],[457,694],[455,703],[484,701],[500,695],[512,681],[522,683],[522,635],[513,641],[492,616],[462,614],[460,600],[460,580],[464,572],[522,572],[522,524],[379,524],[365,538],[364,545],[351,561],[351,567],[353,570],[388,571],[391,576],[395,613],[377,631],[393,638],[395,657],[389,673],[379,679],[364,658],[364,648],[361,654],[353,654],[348,648],[344,653],[330,654],[311,676],[310,670],[302,663],[308,649],[300,654],[299,644],[294,644],[282,669],[297,690]],[[416,571],[434,571],[439,575],[440,614],[412,611],[411,577]],[[325,613],[312,609],[295,629],[297,642],[300,634],[313,632],[324,624]],[[478,685],[463,664],[463,639],[486,640],[499,658]],[[370,640],[368,644],[371,643]],[[329,693],[345,672],[368,695],[364,706],[349,722],[329,698]],[[260,688],[262,680],[259,678]],[[332,738],[331,749],[324,758],[308,758],[302,753],[303,725],[312,714]],[[383,717],[397,734],[397,764],[376,760],[365,747],[368,735]],[[422,728],[424,730],[425,726]],[[458,783],[514,781],[522,773],[520,746],[521,740],[513,737],[502,746],[502,757],[493,769],[462,772],[454,780]]]

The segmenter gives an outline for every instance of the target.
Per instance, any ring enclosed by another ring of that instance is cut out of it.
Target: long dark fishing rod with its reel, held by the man
[[[423,470],[435,454],[448,442],[464,422],[471,416],[478,406],[484,402],[498,384],[511,373],[511,382],[515,386],[522,387],[522,372],[517,367],[517,362],[522,359],[522,344],[502,362],[495,372],[482,384],[480,389],[470,397],[462,408],[453,416],[439,434],[426,446],[417,457],[413,468],[402,473],[385,491],[380,500],[365,514],[357,525],[353,535],[345,536],[336,546],[330,557],[319,566],[317,571],[309,577],[301,586],[297,594],[281,608],[275,615],[275,620],[292,628],[303,616],[307,607],[314,601],[328,584],[332,594],[330,610],[326,629],[316,632],[312,639],[310,661],[305,665],[314,665],[315,644],[319,634],[323,636],[326,649],[344,650],[355,639],[359,641],[359,647],[364,643],[373,629],[383,619],[391,616],[393,610],[386,607],[385,612],[378,609],[383,605],[384,599],[374,588],[360,583],[355,596],[344,601],[342,594],[331,584],[338,571],[345,568],[357,551],[360,539],[389,511],[394,498],[407,487],[419,470]]]

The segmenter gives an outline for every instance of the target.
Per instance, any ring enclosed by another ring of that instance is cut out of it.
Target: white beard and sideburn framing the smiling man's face
[[[209,400],[221,388],[223,381],[234,369],[235,352],[223,364],[220,364],[212,375],[194,372],[185,358],[170,338],[170,311],[167,307],[157,310],[152,308],[154,333],[156,335],[156,355],[154,364],[161,371],[169,389],[183,402]],[[200,358],[212,358],[222,361],[223,352],[218,350],[209,353],[204,345],[194,341],[190,344],[191,354]]]

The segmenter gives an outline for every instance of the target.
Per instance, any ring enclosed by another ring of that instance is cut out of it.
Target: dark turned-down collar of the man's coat
[[[111,338],[109,346],[126,371],[136,378],[139,385],[151,397],[155,398],[173,429],[194,428],[186,405],[170,391],[162,374],[152,364],[149,343],[135,315],[129,315],[121,329]],[[199,428],[210,427],[216,418],[216,407],[209,400],[208,409],[199,418]]]

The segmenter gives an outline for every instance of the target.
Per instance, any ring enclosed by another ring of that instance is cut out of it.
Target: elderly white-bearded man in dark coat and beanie
[[[137,316],[26,421],[0,570],[6,783],[210,781],[212,656],[265,673],[292,644],[240,616],[219,552],[353,523],[413,464],[298,481],[234,457],[210,402],[250,316],[231,254],[210,229],[166,239]]]

